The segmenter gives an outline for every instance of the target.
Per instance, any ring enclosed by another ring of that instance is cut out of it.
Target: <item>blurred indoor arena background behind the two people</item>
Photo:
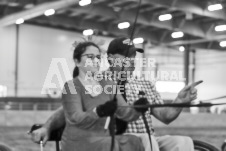
[[[225,6],[225,0],[142,0],[133,42],[145,50],[137,57],[155,66],[137,63],[136,71],[153,73],[166,102],[198,80],[204,82],[196,102],[226,102]],[[93,35],[106,51],[113,38],[131,34],[137,9],[137,0],[0,0],[0,144],[39,150],[26,132],[61,106],[62,83],[74,69],[72,44]],[[226,105],[186,108],[172,124],[154,125],[157,135],[188,135],[220,148],[225,113]]]

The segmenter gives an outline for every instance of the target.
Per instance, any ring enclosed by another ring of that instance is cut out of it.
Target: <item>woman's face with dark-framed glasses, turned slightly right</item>
[[[79,71],[84,73],[95,73],[100,69],[101,54],[98,48],[95,46],[86,47],[86,51],[81,55],[81,61],[76,61]]]

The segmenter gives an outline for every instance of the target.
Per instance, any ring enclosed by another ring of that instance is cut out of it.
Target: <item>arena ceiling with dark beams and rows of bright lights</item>
[[[207,9],[216,3],[223,9]],[[135,37],[143,37],[153,45],[224,50],[219,42],[226,40],[226,30],[215,31],[217,25],[226,25],[224,6],[226,0],[142,0]],[[43,15],[50,8],[56,13]],[[95,29],[99,35],[123,36],[130,34],[132,26],[122,30],[118,23],[127,21],[132,25],[137,8],[138,0],[93,0],[84,7],[78,0],[0,0],[0,26],[24,18],[30,24],[75,31]],[[172,19],[160,21],[162,14],[171,14]],[[184,36],[172,38],[175,31]]]

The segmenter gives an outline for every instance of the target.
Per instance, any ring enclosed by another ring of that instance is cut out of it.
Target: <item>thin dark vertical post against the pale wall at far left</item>
[[[16,55],[15,55],[15,96],[18,95],[18,64],[19,64],[19,25],[16,24]]]

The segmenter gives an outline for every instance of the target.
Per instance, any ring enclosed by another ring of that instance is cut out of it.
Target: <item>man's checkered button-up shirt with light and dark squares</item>
[[[145,97],[148,99],[150,104],[163,104],[163,100],[161,99],[159,93],[156,91],[155,85],[152,82],[135,78],[127,80],[127,83],[125,85],[127,103],[132,105],[136,100],[138,100],[141,97],[138,95],[140,91],[143,91],[145,93]],[[146,112],[145,116],[150,131],[153,134],[154,129],[152,125],[150,109],[148,112]],[[140,116],[138,120],[130,122],[126,130],[126,133],[146,133],[146,132],[147,131],[142,116]]]

